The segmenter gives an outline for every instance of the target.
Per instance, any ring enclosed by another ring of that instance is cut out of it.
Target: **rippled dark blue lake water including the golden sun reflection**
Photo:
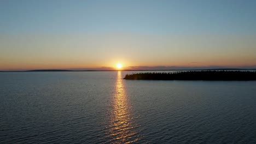
[[[128,73],[0,73],[0,143],[256,143],[256,81]]]

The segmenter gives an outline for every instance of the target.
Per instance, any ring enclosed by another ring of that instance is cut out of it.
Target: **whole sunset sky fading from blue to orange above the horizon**
[[[256,1],[0,1],[0,70],[256,68]]]

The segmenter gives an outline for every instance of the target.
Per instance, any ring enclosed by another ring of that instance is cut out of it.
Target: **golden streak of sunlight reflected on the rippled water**
[[[135,129],[135,116],[127,98],[121,71],[118,71],[115,94],[112,98],[112,109],[109,112],[108,136],[110,143],[132,143],[139,140]]]

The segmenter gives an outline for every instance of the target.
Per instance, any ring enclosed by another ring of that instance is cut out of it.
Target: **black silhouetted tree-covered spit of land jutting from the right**
[[[174,73],[126,74],[125,80],[206,80],[206,81],[251,81],[256,80],[256,71],[190,70]]]

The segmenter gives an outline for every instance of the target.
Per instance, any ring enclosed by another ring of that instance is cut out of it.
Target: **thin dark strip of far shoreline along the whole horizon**
[[[146,70],[146,69],[140,69],[140,70],[65,70],[65,69],[39,69],[39,70],[3,70],[1,72],[70,72],[70,71],[181,71],[181,70],[195,70],[195,71],[200,71],[200,70],[256,70],[256,69],[156,69],[156,70]]]

